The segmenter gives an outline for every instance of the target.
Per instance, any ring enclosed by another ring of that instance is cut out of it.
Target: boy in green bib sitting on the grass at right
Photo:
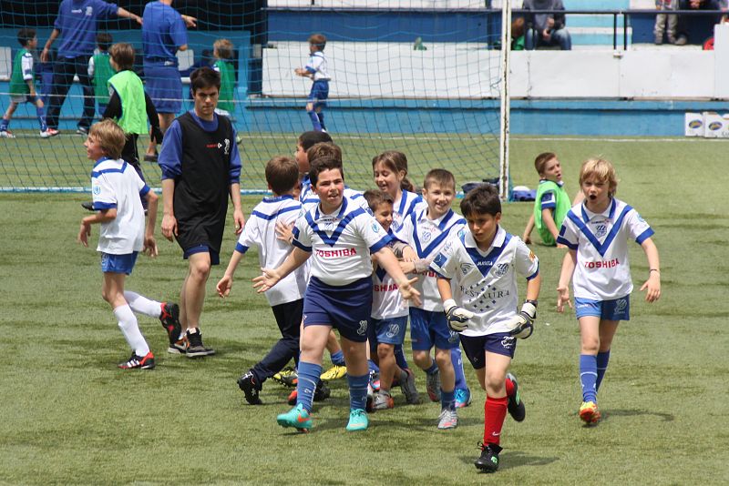
[[[534,168],[539,174],[539,187],[534,201],[534,211],[521,238],[525,243],[531,243],[531,230],[536,226],[542,242],[548,247],[554,247],[557,245],[562,221],[572,206],[570,196],[564,190],[562,166],[555,154],[551,152],[539,154],[534,159]],[[580,191],[575,197],[575,204],[582,202],[582,199]]]

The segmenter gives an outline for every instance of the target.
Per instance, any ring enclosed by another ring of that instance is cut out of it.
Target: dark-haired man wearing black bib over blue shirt
[[[183,258],[190,261],[180,291],[180,323],[187,332],[170,349],[197,358],[215,354],[202,344],[200,313],[210,266],[220,263],[228,194],[236,234],[241,233],[245,219],[235,129],[228,117],[215,113],[221,76],[202,67],[190,76],[190,86],[195,107],[172,121],[159,151],[159,167],[164,199],[162,235],[170,241],[177,238]]]

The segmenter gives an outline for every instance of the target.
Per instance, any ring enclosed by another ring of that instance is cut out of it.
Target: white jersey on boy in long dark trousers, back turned
[[[245,253],[248,248],[258,248],[258,262],[262,268],[279,268],[289,256],[293,246],[276,238],[276,223],[289,225],[299,218],[302,205],[293,196],[266,197],[253,208],[246,220],[236,251]],[[265,292],[272,306],[303,299],[306,279],[303,268],[296,268],[272,289]]]

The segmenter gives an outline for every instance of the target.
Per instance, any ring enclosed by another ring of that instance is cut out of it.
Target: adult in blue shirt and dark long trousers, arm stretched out
[[[103,0],[63,0],[58,7],[53,32],[40,55],[41,62],[47,63],[50,48],[60,35],[61,45],[58,46],[56,63],[53,65],[53,87],[46,112],[48,128],[58,129],[61,106],[66,101],[74,76],[78,76],[84,91],[84,114],[78,121],[77,133],[87,135],[88,127],[91,127],[96,113],[94,86],[91,84],[91,77],[88,76],[88,59],[96,47],[98,21],[115,15],[135,20],[139,25],[142,23],[139,15]]]

